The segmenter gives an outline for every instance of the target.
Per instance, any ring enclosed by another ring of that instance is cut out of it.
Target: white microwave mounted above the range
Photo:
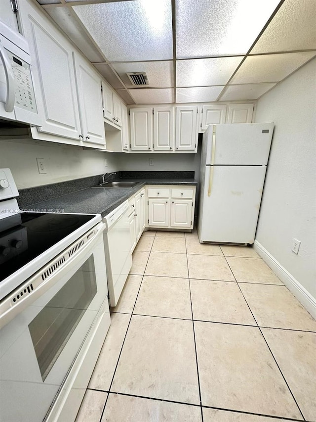
[[[0,21],[0,119],[40,126],[26,39]],[[0,127],[3,125],[0,121]]]

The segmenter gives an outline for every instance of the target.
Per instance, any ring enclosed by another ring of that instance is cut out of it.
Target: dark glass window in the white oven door
[[[93,256],[29,324],[44,381],[97,293]]]

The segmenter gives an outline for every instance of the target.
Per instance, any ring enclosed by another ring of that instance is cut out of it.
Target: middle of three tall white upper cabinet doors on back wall
[[[154,149],[172,150],[174,147],[173,107],[154,108]]]

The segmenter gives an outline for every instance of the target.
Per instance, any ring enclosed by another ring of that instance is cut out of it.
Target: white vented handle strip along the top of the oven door
[[[99,222],[94,228],[79,237],[68,248],[64,249],[63,252],[37,271],[34,276],[6,296],[0,303],[0,328],[32,305],[40,296],[53,287],[61,277],[78,265],[78,259],[80,262],[82,255],[92,252],[105,227],[104,223]],[[92,230],[94,231],[93,236]],[[81,242],[83,242],[82,245],[80,245]],[[101,245],[103,247],[103,241]],[[82,261],[81,264],[83,264]]]

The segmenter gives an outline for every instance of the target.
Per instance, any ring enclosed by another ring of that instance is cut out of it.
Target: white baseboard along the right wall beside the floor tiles
[[[265,249],[257,240],[253,244],[254,250],[261,256],[265,263],[276,273],[277,277],[283,281],[294,296],[301,302],[307,311],[316,319],[316,299],[305,287],[285,270],[282,265]]]

